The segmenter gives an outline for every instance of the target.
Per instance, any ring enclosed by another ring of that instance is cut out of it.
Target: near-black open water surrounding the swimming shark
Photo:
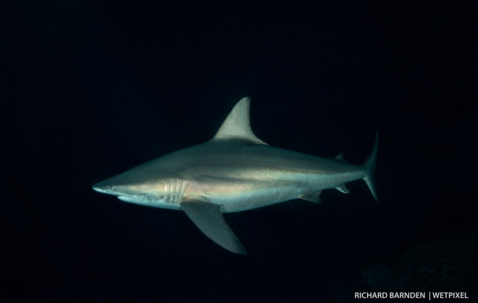
[[[0,3],[3,302],[478,298],[476,1]],[[250,95],[257,137],[362,163],[350,193],[226,215],[91,189],[212,138]],[[372,301],[372,300],[369,300]],[[383,300],[381,300],[383,301]]]

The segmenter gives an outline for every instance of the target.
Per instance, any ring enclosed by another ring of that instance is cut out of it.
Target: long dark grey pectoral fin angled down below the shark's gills
[[[192,200],[181,203],[181,208],[209,239],[233,253],[247,254],[242,243],[224,220],[220,205]]]

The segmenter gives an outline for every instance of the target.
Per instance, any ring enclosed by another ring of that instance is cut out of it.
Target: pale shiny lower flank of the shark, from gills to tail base
[[[259,171],[251,168],[248,171],[247,167],[237,167],[235,175],[237,178],[232,178],[230,174],[196,178],[195,182],[189,182],[189,190],[183,199],[200,199],[221,205],[223,213],[241,212],[336,188],[362,178],[364,173],[362,170],[341,174],[324,174],[318,171],[304,173],[274,168]]]

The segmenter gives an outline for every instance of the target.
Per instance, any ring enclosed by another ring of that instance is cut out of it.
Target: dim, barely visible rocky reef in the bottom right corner
[[[373,262],[361,274],[377,291],[475,291],[478,231],[417,244],[398,263]]]

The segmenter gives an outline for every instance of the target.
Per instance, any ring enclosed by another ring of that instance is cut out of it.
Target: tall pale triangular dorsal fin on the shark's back
[[[257,138],[252,132],[249,116],[250,104],[251,99],[249,97],[244,97],[237,102],[226,120],[222,123],[213,140],[245,139],[256,144],[268,145]]]

